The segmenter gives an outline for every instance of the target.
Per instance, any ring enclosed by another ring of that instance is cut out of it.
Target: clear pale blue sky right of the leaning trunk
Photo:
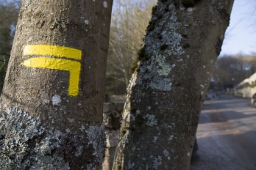
[[[256,53],[256,0],[235,0],[220,56]]]

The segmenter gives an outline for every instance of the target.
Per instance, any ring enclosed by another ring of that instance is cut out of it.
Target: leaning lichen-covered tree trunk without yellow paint
[[[113,169],[188,169],[232,0],[159,0],[127,89]]]

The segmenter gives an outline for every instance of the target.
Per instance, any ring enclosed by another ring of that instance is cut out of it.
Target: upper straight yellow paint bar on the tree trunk
[[[69,48],[57,45],[26,45],[23,51],[26,55],[49,55],[66,57],[70,59],[81,59],[82,51],[76,48]]]

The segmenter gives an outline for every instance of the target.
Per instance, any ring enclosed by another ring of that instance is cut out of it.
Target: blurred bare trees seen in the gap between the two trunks
[[[115,1],[107,55],[106,93],[123,95],[156,0]]]

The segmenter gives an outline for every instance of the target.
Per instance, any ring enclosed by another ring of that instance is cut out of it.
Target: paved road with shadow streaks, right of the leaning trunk
[[[202,165],[191,170],[256,170],[256,108],[249,99],[206,100],[196,137]]]

